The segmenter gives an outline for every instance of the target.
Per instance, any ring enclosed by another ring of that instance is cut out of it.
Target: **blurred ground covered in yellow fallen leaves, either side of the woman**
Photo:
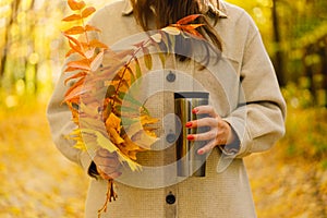
[[[327,217],[326,171],[280,149],[245,158],[258,217]],[[88,178],[52,144],[44,104],[0,112],[0,217],[83,217]]]

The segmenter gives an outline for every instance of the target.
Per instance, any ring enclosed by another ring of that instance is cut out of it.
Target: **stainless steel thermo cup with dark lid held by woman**
[[[177,129],[180,134],[177,140],[177,172],[178,177],[205,177],[206,155],[198,155],[197,149],[203,147],[204,141],[189,141],[189,134],[208,131],[208,128],[185,128],[185,123],[206,117],[206,114],[192,113],[193,108],[208,105],[209,94],[205,92],[174,93],[174,113]]]

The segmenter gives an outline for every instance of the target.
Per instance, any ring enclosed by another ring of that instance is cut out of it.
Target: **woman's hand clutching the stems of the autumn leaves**
[[[105,180],[116,179],[121,175],[119,171],[121,164],[117,153],[109,153],[107,149],[99,148],[94,157],[94,162],[97,166],[99,175]]]

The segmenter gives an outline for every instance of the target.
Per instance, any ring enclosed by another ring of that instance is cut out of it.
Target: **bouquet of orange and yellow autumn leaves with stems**
[[[101,147],[117,153],[122,165],[131,170],[141,170],[136,162],[136,154],[150,149],[157,140],[152,124],[158,120],[140,102],[130,87],[150,70],[153,65],[149,49],[155,48],[165,65],[166,56],[160,52],[160,44],[167,48],[172,44],[169,36],[193,35],[202,37],[195,29],[202,24],[189,24],[198,14],[190,15],[149,35],[147,39],[134,45],[134,49],[114,52],[96,38],[90,39],[95,26],[85,24],[96,10],[86,7],[84,1],[68,0],[73,14],[62,21],[73,23],[63,32],[68,38],[70,50],[64,73],[69,74],[64,83],[73,83],[65,93],[63,101],[72,112],[76,129],[70,138],[76,142],[75,147],[92,153]],[[143,53],[144,64],[141,64]],[[71,58],[74,57],[74,58]],[[146,70],[144,70],[144,66]],[[113,181],[108,181],[107,201],[101,209],[106,211],[107,203],[117,198]]]

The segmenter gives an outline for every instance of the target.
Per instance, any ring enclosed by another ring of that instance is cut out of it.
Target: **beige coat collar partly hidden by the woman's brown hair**
[[[205,12],[208,12],[210,10],[211,12],[218,14],[218,16],[221,19],[228,17],[227,9],[222,0],[219,0],[218,7],[211,3],[210,0],[203,0],[203,1],[207,4]],[[133,7],[131,4],[131,1],[124,0],[124,8],[122,10],[122,14],[130,15],[132,12],[133,12]]]

